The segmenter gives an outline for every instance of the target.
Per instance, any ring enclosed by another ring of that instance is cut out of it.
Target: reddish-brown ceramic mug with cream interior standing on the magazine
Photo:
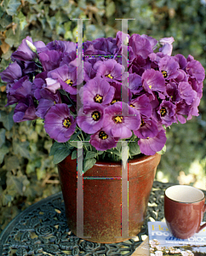
[[[175,185],[164,193],[164,217],[173,236],[186,239],[206,227],[202,226],[206,210],[205,195],[192,186]]]

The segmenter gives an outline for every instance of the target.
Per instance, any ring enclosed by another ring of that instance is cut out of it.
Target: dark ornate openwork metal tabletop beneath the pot
[[[147,222],[163,219],[163,194],[171,183],[154,182],[146,220],[140,234],[128,241],[103,244],[85,241],[72,234],[66,224],[61,192],[21,212],[0,235],[0,256],[26,255],[131,255],[145,240]],[[206,191],[203,191],[206,195]],[[206,221],[204,214],[203,221]]]

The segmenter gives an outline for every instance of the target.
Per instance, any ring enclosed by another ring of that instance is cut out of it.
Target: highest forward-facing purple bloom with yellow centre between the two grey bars
[[[94,64],[94,70],[96,70],[96,76],[105,78],[107,82],[112,82],[112,80],[122,80],[124,67],[115,60],[106,60],[97,61]]]

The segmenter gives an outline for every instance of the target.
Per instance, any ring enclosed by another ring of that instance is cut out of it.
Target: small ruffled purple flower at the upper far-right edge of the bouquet
[[[205,72],[202,64],[199,61],[190,61],[186,65],[186,72],[191,76],[192,79],[196,79],[197,83],[203,82],[205,78]]]

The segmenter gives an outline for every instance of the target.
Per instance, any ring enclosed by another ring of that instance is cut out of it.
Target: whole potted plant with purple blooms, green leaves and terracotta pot
[[[203,95],[203,66],[192,55],[171,56],[173,42],[117,32],[116,38],[83,43],[79,61],[75,43],[45,45],[27,37],[1,73],[6,106],[17,103],[14,122],[43,119],[54,140],[50,154],[76,235],[79,200],[81,236],[90,241],[128,239],[121,233],[123,207],[129,211],[128,237],[140,231],[166,128],[197,116]],[[128,52],[124,64],[123,49]]]

